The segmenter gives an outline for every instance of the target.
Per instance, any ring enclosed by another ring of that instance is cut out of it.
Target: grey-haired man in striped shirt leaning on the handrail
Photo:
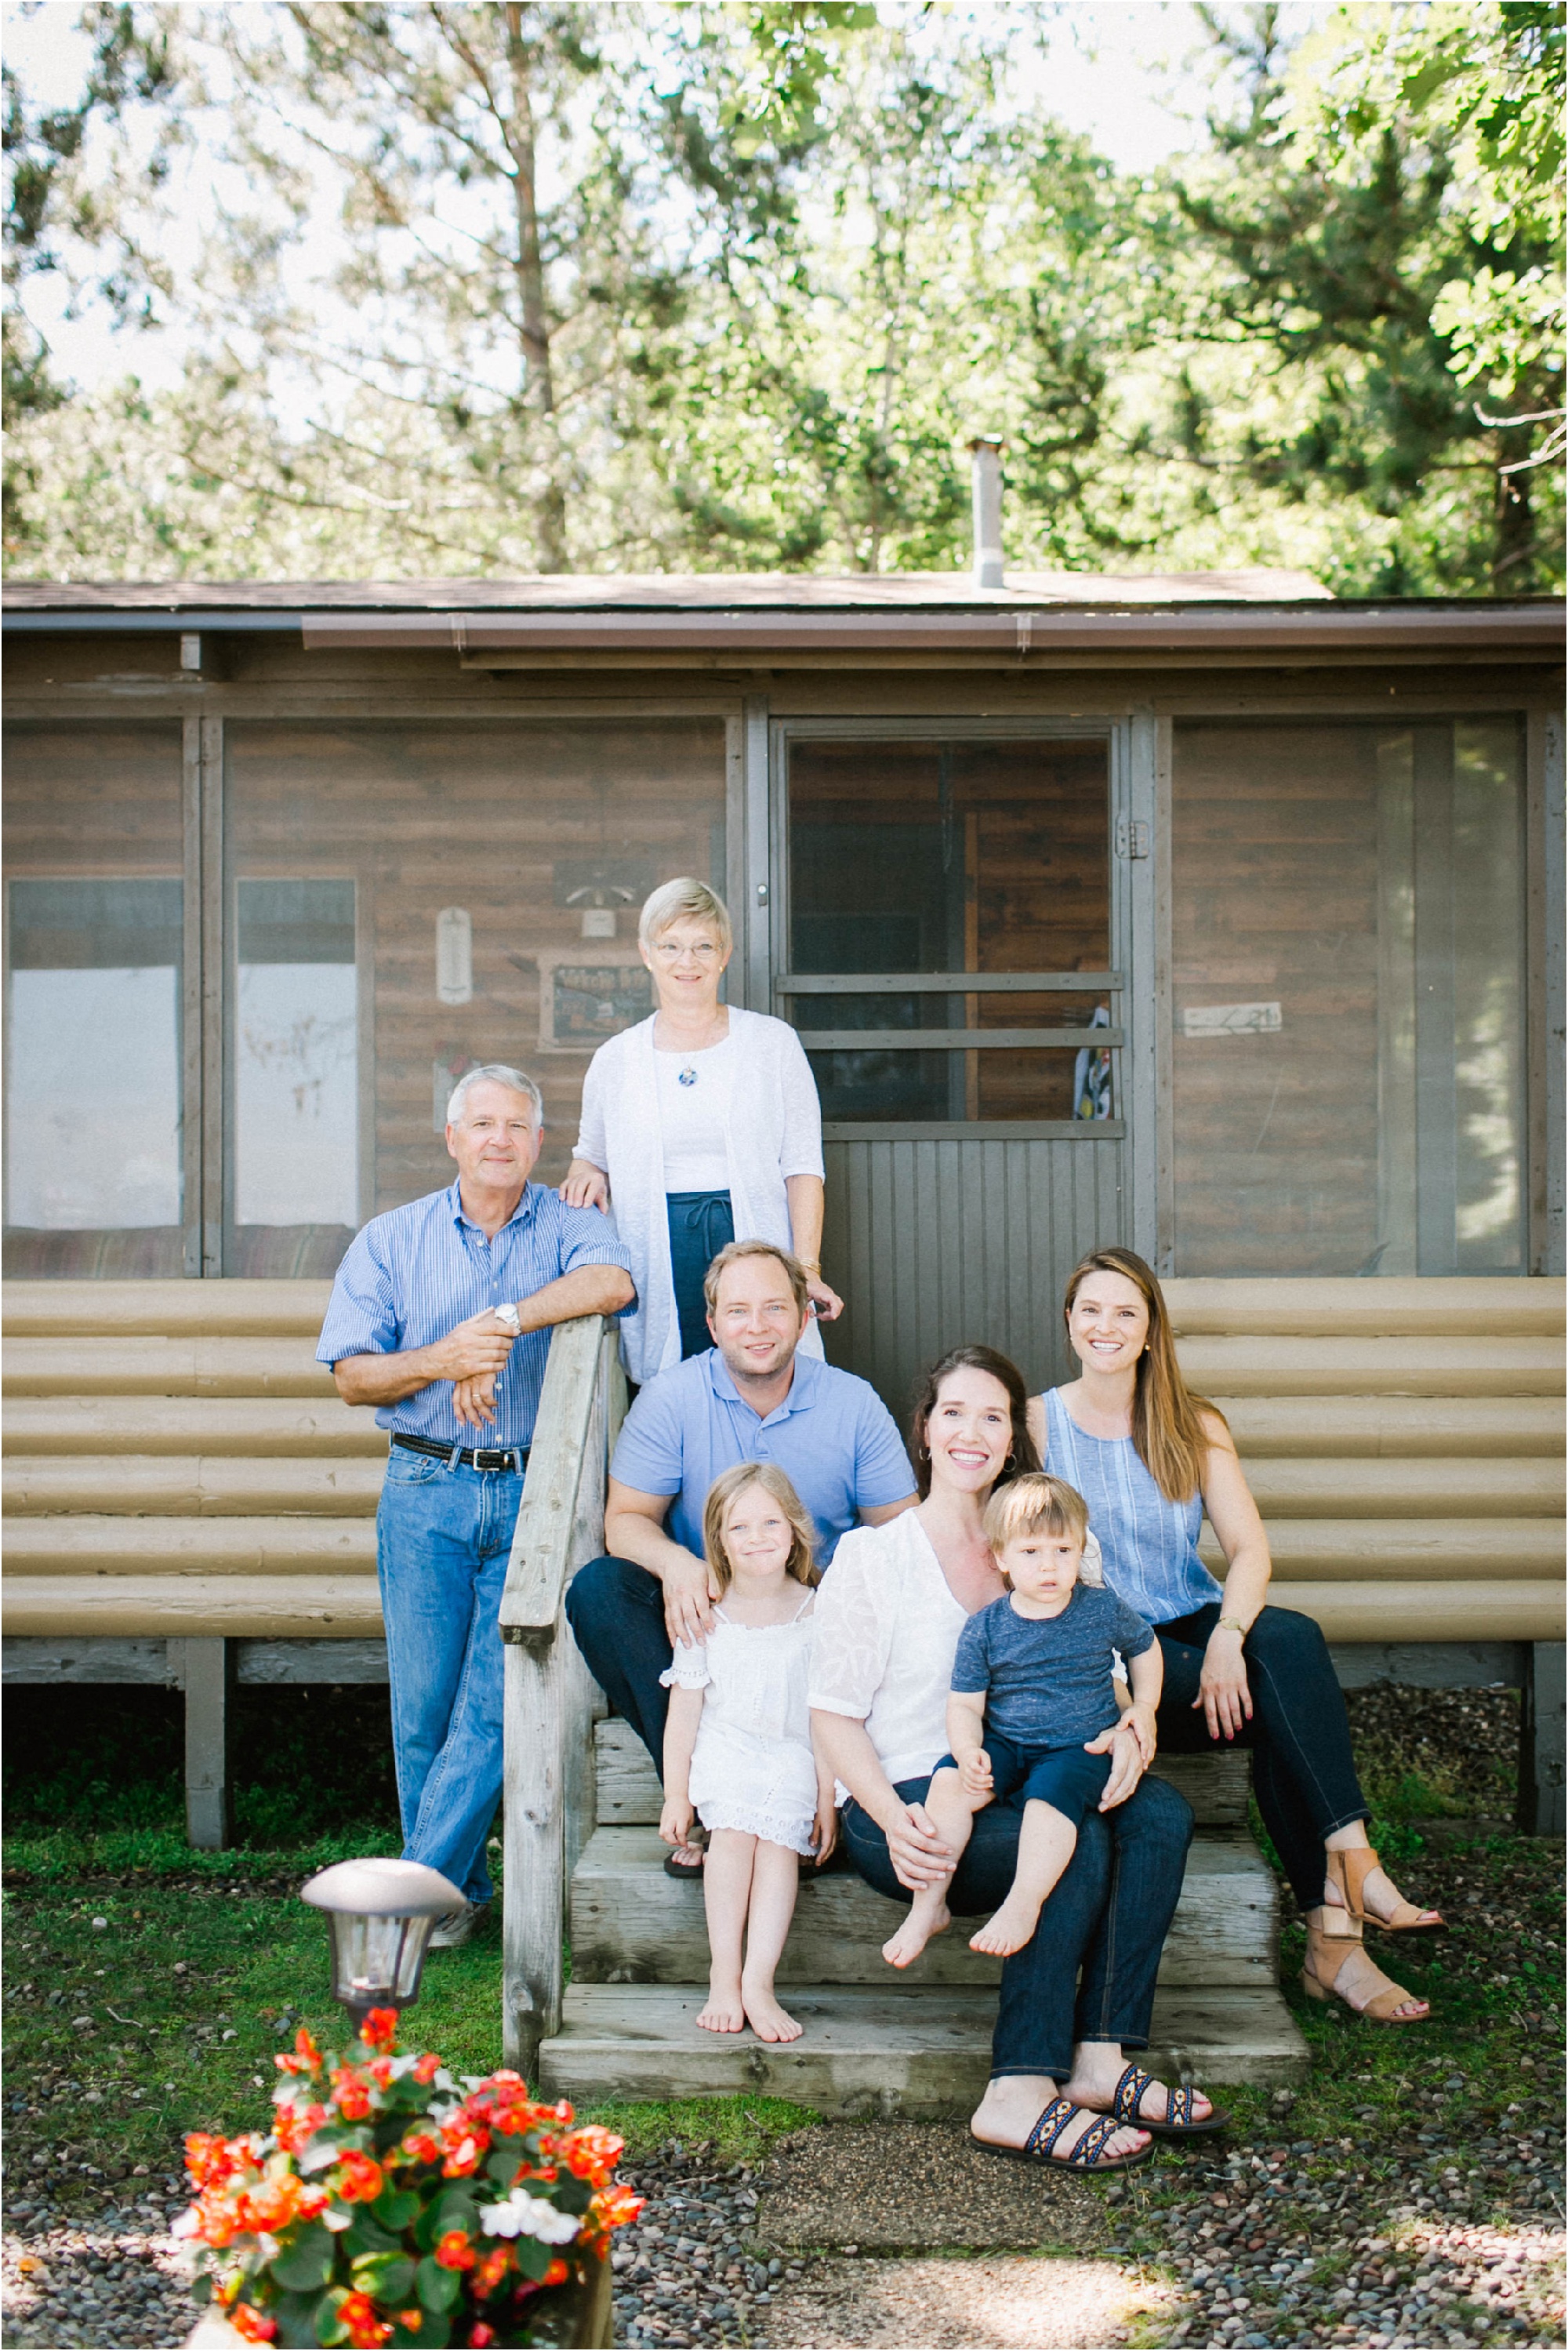
[[[609,1220],[529,1183],[541,1140],[534,1079],[498,1063],[470,1070],[447,1103],[456,1183],[353,1239],[315,1349],[343,1401],[374,1404],[390,1432],[376,1573],[397,1803],[404,1857],[463,1890],[433,1937],[444,1947],[468,1940],[491,1895],[496,1615],[550,1326],[635,1298]]]

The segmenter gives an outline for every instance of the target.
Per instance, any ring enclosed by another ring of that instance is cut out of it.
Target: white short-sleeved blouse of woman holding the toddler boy
[[[839,1535],[816,1594],[811,1704],[865,1723],[898,1787],[947,1754],[947,1693],[966,1613],[912,1509]]]

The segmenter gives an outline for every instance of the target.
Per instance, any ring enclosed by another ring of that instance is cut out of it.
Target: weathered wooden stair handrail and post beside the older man
[[[524,2076],[562,2022],[567,1883],[592,1831],[592,1721],[604,1704],[562,1603],[604,1547],[604,1476],[623,1413],[614,1321],[557,1324],[501,1596],[501,2003],[505,2062]]]

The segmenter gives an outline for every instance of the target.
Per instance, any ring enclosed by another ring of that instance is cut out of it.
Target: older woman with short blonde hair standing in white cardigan
[[[625,1368],[651,1380],[712,1345],[703,1274],[726,1241],[778,1241],[811,1277],[823,1321],[823,1112],[788,1020],[719,1004],[729,910],[705,882],[665,882],[637,924],[656,1011],[599,1046],[562,1199],[611,1208],[630,1248],[637,1310]],[[820,1354],[809,1328],[802,1349]]]

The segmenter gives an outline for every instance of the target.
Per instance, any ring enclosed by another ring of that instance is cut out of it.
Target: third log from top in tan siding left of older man
[[[294,1396],[14,1396],[7,1453],[355,1455],[386,1460],[367,1406]]]

